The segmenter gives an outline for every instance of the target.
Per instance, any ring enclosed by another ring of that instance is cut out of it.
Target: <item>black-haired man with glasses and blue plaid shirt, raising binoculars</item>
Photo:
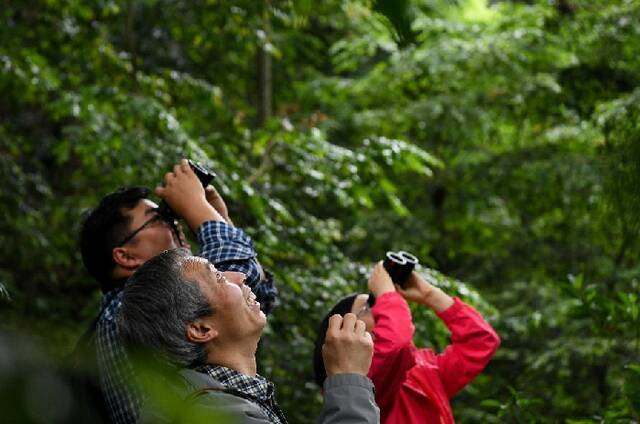
[[[241,272],[261,309],[269,313],[277,290],[260,266],[251,239],[232,225],[224,200],[212,186],[203,189],[186,160],[165,175],[165,195],[155,193],[183,218],[197,235],[200,256],[222,271]],[[102,309],[93,324],[102,392],[110,420],[134,423],[142,396],[129,384],[132,367],[118,338],[115,317],[127,279],[161,252],[188,247],[175,222],[166,222],[143,187],[123,188],[105,196],[85,218],[80,244],[82,259],[103,293]],[[178,230],[176,230],[178,229]]]

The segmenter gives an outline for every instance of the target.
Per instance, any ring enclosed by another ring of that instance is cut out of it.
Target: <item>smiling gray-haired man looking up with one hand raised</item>
[[[256,372],[267,318],[245,279],[184,249],[165,251],[127,282],[118,331],[125,345],[148,349],[180,369],[188,387],[183,397],[197,406],[222,408],[243,423],[286,423],[273,384]],[[354,314],[331,317],[321,423],[379,422],[366,377],[372,353],[364,322]],[[145,410],[147,416],[153,412]]]

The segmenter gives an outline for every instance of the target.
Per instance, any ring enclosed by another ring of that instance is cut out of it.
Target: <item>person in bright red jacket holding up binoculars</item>
[[[369,278],[369,290],[371,295],[341,299],[327,318],[353,312],[372,332],[374,353],[368,376],[376,389],[380,422],[454,423],[449,400],[484,369],[500,338],[475,309],[415,272],[402,289],[393,284],[380,262]],[[413,344],[415,327],[407,301],[431,308],[449,328],[451,344],[442,353]],[[326,374],[321,343],[316,343],[314,371],[322,387]]]

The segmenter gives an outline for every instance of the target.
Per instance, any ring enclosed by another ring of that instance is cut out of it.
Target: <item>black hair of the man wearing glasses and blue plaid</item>
[[[146,187],[121,187],[107,194],[98,206],[89,211],[80,230],[82,262],[98,281],[103,293],[114,288],[111,272],[116,263],[111,251],[129,231],[131,217],[125,212],[149,196]]]

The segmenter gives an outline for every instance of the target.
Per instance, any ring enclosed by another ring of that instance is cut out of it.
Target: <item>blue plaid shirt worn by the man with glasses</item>
[[[271,274],[265,272],[267,278],[260,279],[262,268],[256,259],[251,238],[241,229],[220,221],[205,222],[198,228],[197,236],[200,256],[221,271],[246,274],[245,283],[255,293],[262,310],[269,313],[278,292]],[[133,367],[117,334],[115,319],[121,299],[122,289],[112,290],[102,298],[103,310],[96,324],[96,356],[111,421],[129,424],[138,419],[142,394],[129,384]]]

